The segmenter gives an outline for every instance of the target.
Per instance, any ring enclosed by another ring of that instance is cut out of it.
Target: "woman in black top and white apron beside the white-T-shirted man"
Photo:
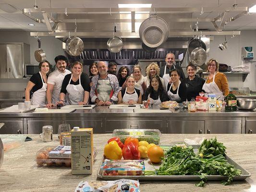
[[[59,104],[64,104],[64,98],[65,93],[63,93],[64,84],[65,81],[70,78],[67,86],[66,86],[66,93],[67,93],[67,105],[86,105],[88,103],[89,99],[89,78],[88,82],[85,82],[87,85],[87,90],[84,89],[84,87],[81,84],[81,74],[83,71],[83,65],[82,63],[75,61],[72,64],[72,74],[68,74],[65,76],[62,87],[61,87],[61,94],[60,94],[60,102]],[[69,76],[71,75],[71,77]],[[85,74],[85,77],[88,77],[87,74]],[[87,78],[85,78],[87,79]],[[73,83],[71,83],[73,82]]]

